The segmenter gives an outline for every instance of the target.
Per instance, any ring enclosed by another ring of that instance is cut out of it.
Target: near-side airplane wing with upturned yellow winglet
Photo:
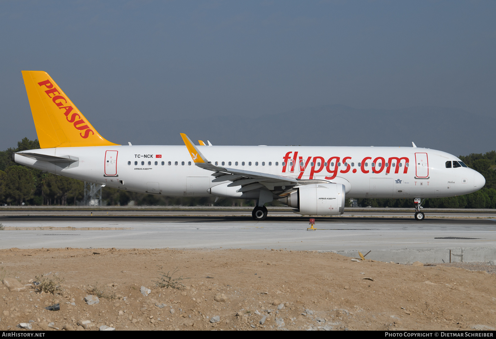
[[[265,186],[277,195],[290,191],[300,183],[299,180],[288,176],[215,166],[201,154],[186,134],[181,133],[181,137],[194,164],[202,169],[214,172],[212,175],[215,176],[215,179],[212,182],[232,181],[228,186],[241,186],[238,192],[248,192]]]

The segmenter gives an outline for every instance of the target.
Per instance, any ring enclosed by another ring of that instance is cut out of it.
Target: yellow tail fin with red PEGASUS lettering
[[[114,146],[43,71],[22,71],[41,148]]]

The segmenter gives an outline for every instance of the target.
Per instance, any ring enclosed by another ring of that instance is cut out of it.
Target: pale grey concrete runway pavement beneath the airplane
[[[395,262],[449,262],[451,251],[452,262],[496,260],[494,215],[431,216],[422,222],[410,215],[389,214],[316,218],[317,230],[308,231],[309,219],[289,212],[264,222],[251,220],[249,212],[84,214],[0,216],[0,223],[10,229],[0,231],[0,247],[287,249],[334,251],[352,257],[358,257],[358,251],[371,251],[368,259]]]

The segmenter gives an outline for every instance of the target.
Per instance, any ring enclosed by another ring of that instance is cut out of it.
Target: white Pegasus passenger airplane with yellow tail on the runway
[[[22,71],[41,149],[12,161],[118,189],[181,197],[254,199],[252,217],[279,200],[306,216],[344,213],[345,197],[422,199],[481,189],[486,180],[459,158],[428,148],[119,145],[106,140],[44,71]]]

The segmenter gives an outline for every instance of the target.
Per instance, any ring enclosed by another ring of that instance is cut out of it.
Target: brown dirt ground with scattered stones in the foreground
[[[483,271],[491,266],[351,259],[285,249],[4,249],[0,278],[27,289],[0,284],[0,330],[29,322],[49,331],[496,327],[496,275]],[[175,268],[170,287],[157,287]],[[41,275],[62,281],[55,294],[37,291]],[[99,303],[88,305],[90,294]],[[57,303],[60,310],[45,309]]]

